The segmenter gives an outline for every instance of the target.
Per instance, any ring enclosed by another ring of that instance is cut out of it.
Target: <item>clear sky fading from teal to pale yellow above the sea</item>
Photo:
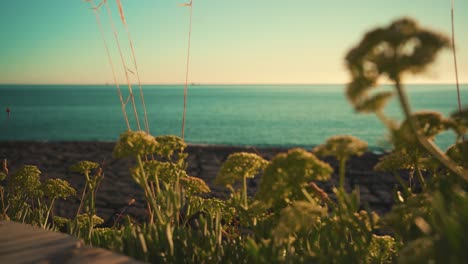
[[[96,1],[98,3],[99,1]],[[145,84],[185,81],[189,8],[182,0],[122,0]],[[114,0],[124,59],[130,45]],[[344,56],[363,34],[408,16],[451,34],[450,0],[193,0],[189,82],[346,83]],[[93,10],[81,0],[2,0],[0,83],[113,83]],[[455,1],[459,77],[468,83],[468,1]],[[106,10],[100,18],[118,81],[125,82]],[[409,83],[453,83],[450,50]],[[132,82],[135,82],[133,78]]]

